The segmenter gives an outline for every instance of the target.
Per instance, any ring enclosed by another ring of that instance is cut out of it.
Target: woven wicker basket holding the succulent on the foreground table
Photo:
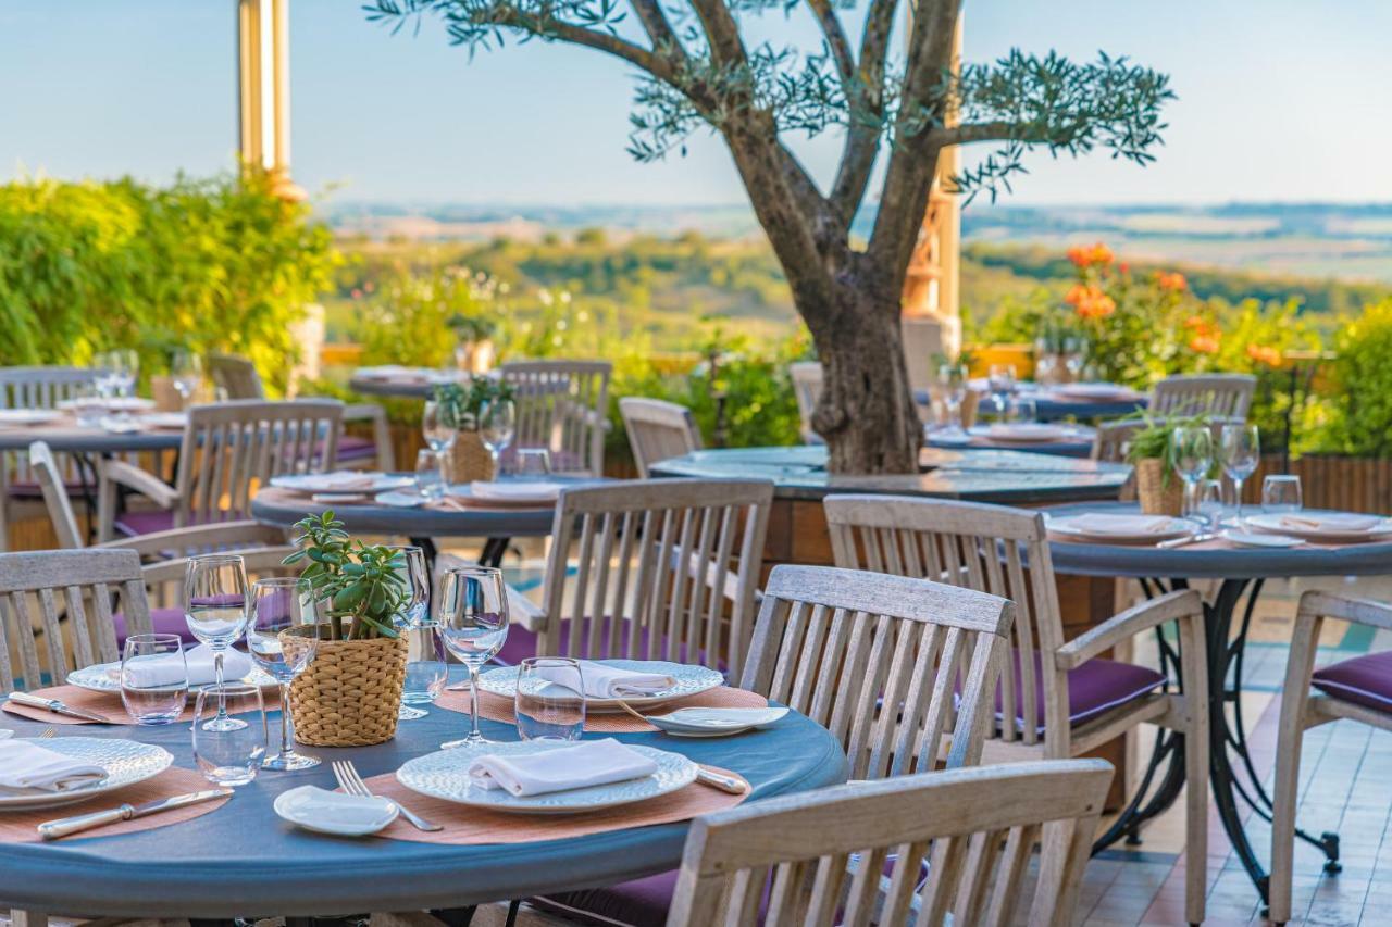
[[[291,649],[308,629],[285,632]],[[308,746],[369,746],[397,734],[406,682],[405,637],[320,640],[290,688],[295,740]]]

